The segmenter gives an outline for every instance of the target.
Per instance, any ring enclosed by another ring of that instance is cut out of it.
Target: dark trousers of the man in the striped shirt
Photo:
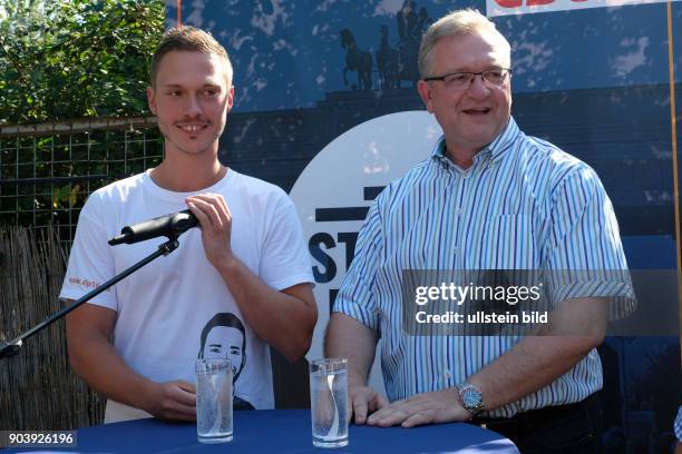
[[[602,406],[593,394],[576,404],[534,409],[507,420],[476,418],[512,440],[522,454],[597,454],[602,436]]]

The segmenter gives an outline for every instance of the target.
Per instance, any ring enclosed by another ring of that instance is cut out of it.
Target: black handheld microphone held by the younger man
[[[120,235],[109,239],[109,245],[116,246],[123,243],[131,245],[146,239],[165,236],[175,239],[192,227],[198,226],[197,218],[185,209],[170,215],[159,216],[144,223],[126,226],[120,230]]]

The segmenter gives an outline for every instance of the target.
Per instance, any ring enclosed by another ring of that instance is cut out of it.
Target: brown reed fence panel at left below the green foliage
[[[0,230],[0,339],[10,340],[61,308],[66,254],[56,230]],[[64,319],[0,359],[0,430],[72,430],[100,424],[104,399],[70,369]]]

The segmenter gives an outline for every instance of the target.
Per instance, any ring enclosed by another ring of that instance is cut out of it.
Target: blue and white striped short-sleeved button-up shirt
[[[402,329],[405,269],[626,269],[604,188],[584,162],[524,135],[514,119],[467,170],[432,156],[390,184],[371,206],[334,303],[380,334],[390,401],[451,387],[510,349],[518,336],[413,336]],[[618,296],[629,279],[557,287],[559,300]],[[602,387],[596,351],[549,386],[489,417],[582,401]],[[485,398],[485,396],[484,396]]]

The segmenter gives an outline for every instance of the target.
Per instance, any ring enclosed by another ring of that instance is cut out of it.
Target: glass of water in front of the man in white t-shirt
[[[201,443],[232,441],[232,363],[197,359],[196,434]]]

